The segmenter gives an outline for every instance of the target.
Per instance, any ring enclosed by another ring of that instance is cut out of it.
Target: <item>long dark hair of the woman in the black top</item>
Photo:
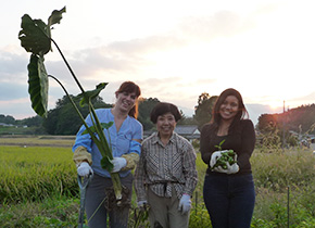
[[[217,98],[215,105],[214,105],[214,109],[212,111],[211,124],[213,124],[215,131],[217,131],[220,119],[222,119],[222,116],[219,114],[220,105],[223,104],[223,102],[226,100],[226,98],[228,96],[235,96],[239,102],[239,110],[238,110],[238,112],[237,112],[237,114],[236,114],[236,116],[235,116],[235,118],[229,127],[229,130],[232,130],[235,125],[237,123],[239,123],[240,119],[244,119],[244,118],[249,117],[249,113],[248,113],[245,105],[243,103],[243,99],[242,99],[241,93],[238,90],[232,89],[232,88],[226,89]]]

